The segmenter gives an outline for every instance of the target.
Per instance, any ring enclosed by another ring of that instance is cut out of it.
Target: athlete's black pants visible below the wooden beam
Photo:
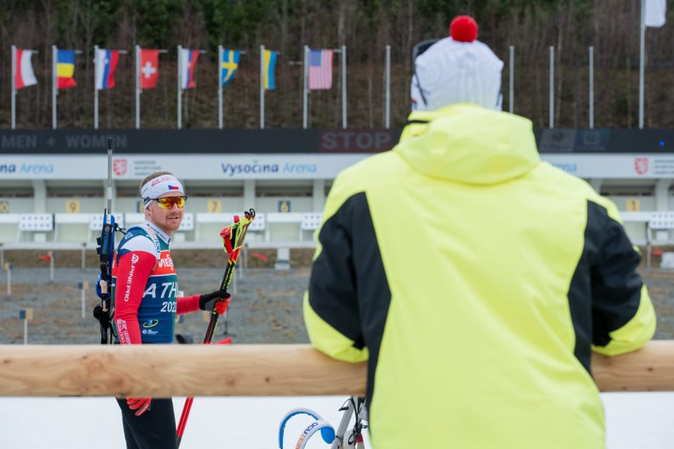
[[[117,399],[124,422],[126,449],[178,449],[173,400],[152,398],[150,409],[136,416],[126,399]]]

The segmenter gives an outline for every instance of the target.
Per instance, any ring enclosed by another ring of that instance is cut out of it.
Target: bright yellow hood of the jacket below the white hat
[[[540,163],[529,119],[462,103],[412,112],[393,151],[430,177],[490,185]]]

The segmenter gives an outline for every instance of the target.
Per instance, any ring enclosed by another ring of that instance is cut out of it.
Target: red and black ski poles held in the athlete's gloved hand
[[[220,237],[223,238],[223,249],[225,250],[225,253],[229,255],[223,281],[220,282],[220,290],[225,290],[226,292],[232,282],[232,274],[234,274],[234,267],[237,266],[241,248],[244,246],[246,231],[253,220],[255,220],[255,210],[246,210],[243,219],[239,218],[239,215],[234,215],[234,222],[232,225],[225,227],[225,229],[220,232]],[[216,326],[218,324],[218,316],[220,315],[216,310],[215,304],[213,304],[211,319],[208,328],[206,328],[206,335],[204,336],[204,344],[211,344],[213,341],[213,334],[216,332]],[[180,447],[180,441],[183,439],[183,434],[185,433],[185,425],[187,425],[187,417],[190,416],[192,402],[194,402],[194,397],[186,398],[185,405],[183,406],[183,413],[180,414],[178,429],[176,429],[176,434],[178,435],[178,447]]]

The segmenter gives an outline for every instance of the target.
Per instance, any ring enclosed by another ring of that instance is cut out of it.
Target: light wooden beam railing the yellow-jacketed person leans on
[[[674,341],[595,356],[602,391],[674,391]],[[0,345],[0,396],[362,396],[366,364],[307,344]]]

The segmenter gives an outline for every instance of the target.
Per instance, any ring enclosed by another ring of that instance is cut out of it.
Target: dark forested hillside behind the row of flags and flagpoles
[[[674,0],[668,0],[670,13]],[[385,47],[391,46],[390,123],[410,110],[412,48],[447,36],[454,16],[476,18],[478,39],[504,62],[503,109],[549,122],[549,47],[555,47],[557,128],[586,128],[588,48],[594,48],[594,125],[638,126],[641,0],[5,0],[0,8],[0,128],[11,126],[11,45],[34,49],[37,86],[18,91],[17,127],[51,128],[51,46],[81,50],[77,87],[58,95],[59,128],[93,128],[93,46],[125,49],[116,86],[99,91],[100,128],[135,126],[133,47],[164,48],[156,89],[141,94],[143,128],[175,128],[176,46],[206,50],[197,87],[183,94],[184,128],[218,127],[217,48],[245,51],[223,88],[225,128],[260,126],[259,47],[278,51],[276,89],[265,93],[267,128],[301,128],[303,46],[347,46],[348,127],[385,123]],[[668,14],[670,15],[670,14]],[[671,15],[670,15],[671,17]],[[674,23],[646,29],[645,127],[672,128]],[[508,98],[509,47],[514,46],[514,95]],[[333,87],[310,91],[312,128],[341,128],[340,55]]]

